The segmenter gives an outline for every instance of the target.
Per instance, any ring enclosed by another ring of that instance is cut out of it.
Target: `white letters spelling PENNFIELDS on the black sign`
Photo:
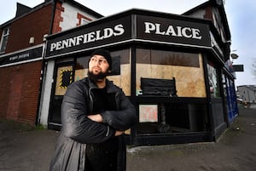
[[[82,43],[92,43],[98,40],[107,39],[109,37],[117,37],[124,34],[124,26],[119,24],[113,28],[104,28],[98,31],[91,31],[89,33],[79,35],[77,37],[67,38],[55,43],[50,43],[49,51],[61,50],[62,48],[70,48],[73,46],[79,46]]]

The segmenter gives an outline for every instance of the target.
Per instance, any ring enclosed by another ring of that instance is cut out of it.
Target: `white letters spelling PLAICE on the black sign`
[[[186,37],[201,40],[201,32],[198,28],[191,28],[187,26],[172,26],[169,25],[167,29],[163,29],[158,23],[144,22],[145,33],[154,33],[157,35],[166,35],[172,37]]]

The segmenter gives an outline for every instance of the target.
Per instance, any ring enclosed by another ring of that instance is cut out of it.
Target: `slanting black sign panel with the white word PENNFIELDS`
[[[102,22],[96,26],[81,26],[60,37],[48,38],[45,58],[74,54],[104,44],[131,38],[131,16]]]

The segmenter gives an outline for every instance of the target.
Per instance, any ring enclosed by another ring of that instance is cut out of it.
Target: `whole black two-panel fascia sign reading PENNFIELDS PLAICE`
[[[131,12],[133,12],[131,10]],[[182,46],[211,47],[209,26],[178,19],[147,16],[144,14],[127,14],[113,20],[91,22],[88,25],[63,31],[47,37],[45,59],[75,54],[101,46],[128,43],[132,41],[169,43]]]

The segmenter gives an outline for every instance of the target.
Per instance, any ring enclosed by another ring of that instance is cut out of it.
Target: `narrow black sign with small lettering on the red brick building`
[[[35,60],[43,60],[43,45],[33,48],[26,48],[11,54],[3,54],[0,56],[0,67],[13,66],[21,63],[32,62]]]

